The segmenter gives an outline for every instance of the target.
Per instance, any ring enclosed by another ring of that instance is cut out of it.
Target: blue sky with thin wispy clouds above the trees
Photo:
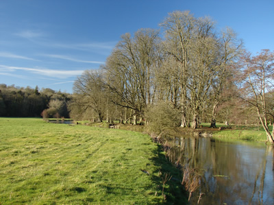
[[[0,83],[72,93],[76,77],[98,69],[123,33],[160,29],[175,10],[231,27],[253,54],[274,51],[273,0],[1,0]]]

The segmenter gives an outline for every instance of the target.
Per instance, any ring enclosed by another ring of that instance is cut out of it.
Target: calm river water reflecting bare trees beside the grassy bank
[[[199,174],[190,204],[274,204],[273,146],[187,136],[169,144],[172,161]]]

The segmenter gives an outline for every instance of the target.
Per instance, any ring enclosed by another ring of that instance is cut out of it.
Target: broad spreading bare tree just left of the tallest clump
[[[125,33],[105,65],[107,87],[115,96],[112,102],[132,109],[134,124],[155,98],[153,69],[159,66],[158,40],[158,31],[153,29],[140,29],[133,37]]]

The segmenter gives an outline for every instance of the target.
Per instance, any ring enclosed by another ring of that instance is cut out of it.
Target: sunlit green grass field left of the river
[[[167,173],[181,176],[148,135],[0,118],[0,204],[158,204]],[[167,202],[181,189],[166,182]]]

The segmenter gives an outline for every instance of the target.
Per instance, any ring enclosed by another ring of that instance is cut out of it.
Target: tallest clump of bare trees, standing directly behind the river
[[[241,42],[232,29],[218,33],[209,17],[195,18],[190,12],[173,12],[161,24],[166,33],[164,50],[178,66],[182,124],[187,126],[186,113],[192,114],[192,128],[197,128],[203,109],[212,105],[212,126],[216,126],[216,107],[229,76],[229,66],[238,56]]]

